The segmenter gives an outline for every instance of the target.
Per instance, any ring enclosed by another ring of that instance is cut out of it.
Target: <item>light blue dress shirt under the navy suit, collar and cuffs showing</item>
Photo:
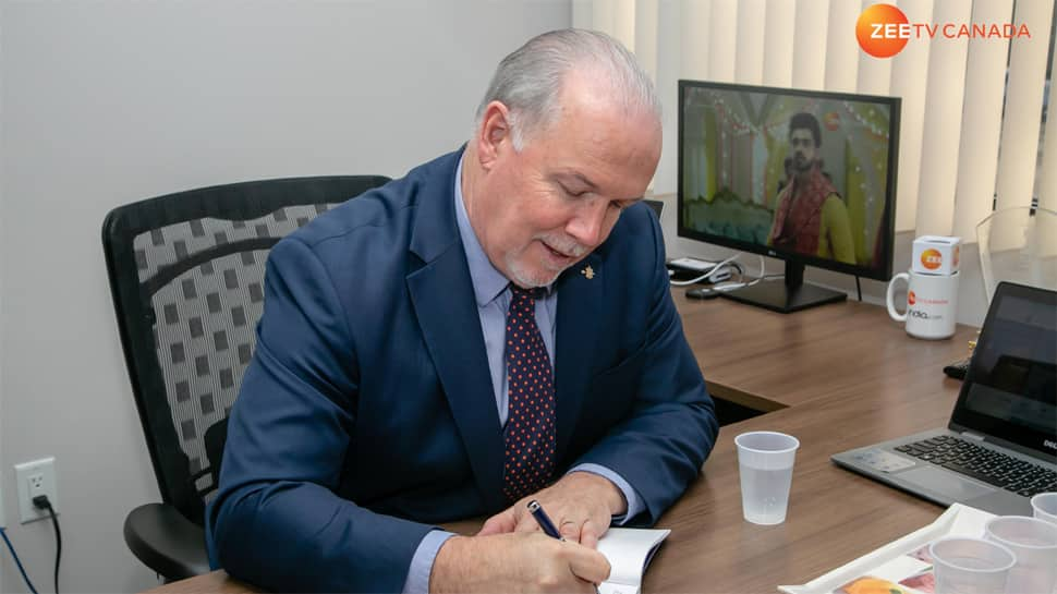
[[[455,218],[459,222],[459,235],[466,251],[466,263],[470,265],[470,279],[473,282],[474,295],[477,300],[477,315],[481,317],[481,330],[484,334],[485,350],[488,355],[488,371],[491,373],[491,387],[496,395],[496,409],[499,422],[507,424],[507,365],[503,361],[507,336],[507,310],[510,307],[510,281],[491,265],[485,251],[477,241],[477,235],[470,225],[466,205],[462,199],[462,159],[455,169]],[[536,325],[543,335],[544,346],[550,355],[551,367],[555,364],[555,334],[558,311],[558,292],[554,286],[547,288],[544,299],[536,300]],[[635,517],[643,510],[644,504],[635,489],[616,472],[598,464],[579,464],[569,472],[583,471],[605,476],[611,481],[623,494],[628,501],[628,511],[623,516],[613,518],[613,522],[622,524],[629,518]],[[454,536],[451,532],[435,530],[418,544],[411,569],[404,581],[404,594],[425,593],[429,590],[429,573],[437,551],[448,538]]]

